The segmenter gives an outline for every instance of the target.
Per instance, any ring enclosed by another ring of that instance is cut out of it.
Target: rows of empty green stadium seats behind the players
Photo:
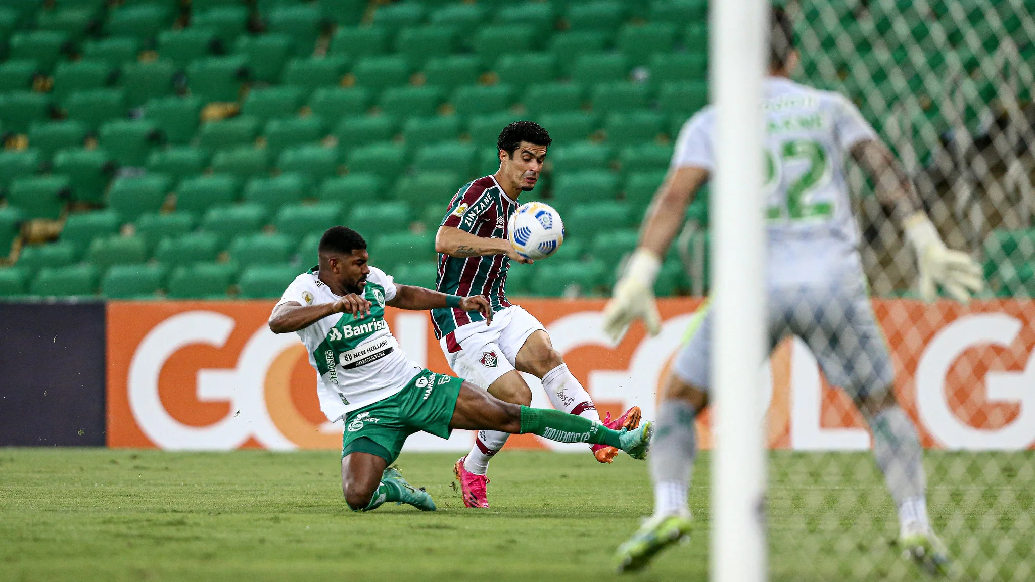
[[[17,261],[0,267],[0,295],[276,296],[339,222],[375,264],[431,286],[448,199],[495,171],[496,137],[521,118],[555,140],[529,198],[558,207],[569,238],[515,266],[508,290],[604,291],[679,127],[707,103],[706,6],[4,3],[0,249]],[[861,4],[804,9],[848,26]],[[954,56],[971,63],[965,49]],[[688,215],[707,227],[706,197]],[[60,234],[23,237],[33,221]],[[657,291],[688,289],[673,252]]]

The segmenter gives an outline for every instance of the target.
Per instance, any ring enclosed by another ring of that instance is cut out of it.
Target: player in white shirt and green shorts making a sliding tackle
[[[274,333],[297,331],[317,370],[317,395],[327,419],[344,419],[342,491],[354,511],[388,501],[435,511],[435,502],[389,465],[417,431],[449,438],[453,429],[532,433],[561,442],[620,448],[643,459],[649,423],[615,431],[558,410],[503,402],[471,384],[407,359],[384,319],[385,305],[404,310],[453,308],[493,319],[481,295],[460,297],[396,285],[367,263],[366,241],[332,227],[319,246],[320,264],[298,275],[273,308]]]

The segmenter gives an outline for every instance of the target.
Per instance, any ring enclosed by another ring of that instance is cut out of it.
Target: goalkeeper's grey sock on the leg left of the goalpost
[[[693,406],[682,400],[664,400],[658,406],[649,459],[655,516],[689,514],[686,490],[697,456],[696,416]]]

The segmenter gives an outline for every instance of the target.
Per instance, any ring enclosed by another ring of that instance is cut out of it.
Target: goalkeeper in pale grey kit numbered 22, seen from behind
[[[831,384],[853,398],[873,431],[877,464],[898,508],[904,553],[928,570],[944,572],[947,556],[927,519],[922,449],[915,427],[895,401],[891,359],[866,294],[845,158],[858,163],[874,179],[881,200],[894,208],[894,220],[916,250],[925,298],[934,298],[936,285],[941,285],[952,297],[969,299],[970,292],[981,288],[980,268],[946,248],[908,176],[849,99],[789,79],[798,60],[793,29],[780,9],[774,10],[772,24],[763,105],[770,346],[787,334],[801,338]],[[650,332],[659,330],[651,289],[687,204],[713,168],[714,123],[715,110],[707,107],[679,135],[639,248],[605,308],[605,330],[615,340],[638,318]],[[620,571],[643,568],[689,530],[693,421],[708,404],[710,386],[712,319],[705,313],[698,320],[659,399],[650,463],[654,515],[619,547]]]

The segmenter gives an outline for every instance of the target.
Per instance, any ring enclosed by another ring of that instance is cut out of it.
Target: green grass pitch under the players
[[[353,514],[334,453],[0,448],[0,580],[622,579],[612,552],[652,506],[643,463],[507,450],[493,508],[472,511],[450,487],[456,457],[400,459],[437,513]],[[1035,457],[928,454],[927,467],[955,578],[1035,578]],[[696,482],[692,541],[624,579],[706,579],[707,455]],[[868,455],[774,453],[768,501],[771,580],[925,579],[889,544]]]

